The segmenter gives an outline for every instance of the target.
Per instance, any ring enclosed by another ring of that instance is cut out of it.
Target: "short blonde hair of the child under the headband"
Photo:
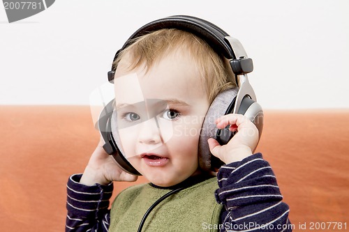
[[[236,86],[235,75],[223,56],[216,54],[214,49],[198,36],[178,29],[161,29],[135,38],[132,44],[119,54],[113,66],[117,67],[127,54],[131,59],[128,70],[142,66],[149,70],[156,61],[178,49],[193,59],[202,75],[209,102],[212,102],[218,93]]]

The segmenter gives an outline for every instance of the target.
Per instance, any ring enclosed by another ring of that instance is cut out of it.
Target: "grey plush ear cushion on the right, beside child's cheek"
[[[202,123],[198,147],[199,166],[203,171],[216,171],[224,164],[211,154],[207,140],[209,138],[217,139],[216,119],[232,112],[238,90],[238,88],[230,88],[219,93],[207,110],[205,120]]]

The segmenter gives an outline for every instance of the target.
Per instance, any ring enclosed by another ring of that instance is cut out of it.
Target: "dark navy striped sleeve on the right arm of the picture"
[[[221,231],[292,231],[288,205],[262,154],[224,165],[217,178],[216,200],[226,210]]]

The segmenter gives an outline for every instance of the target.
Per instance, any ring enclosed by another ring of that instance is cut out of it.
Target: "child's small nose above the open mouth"
[[[156,118],[150,118],[141,123],[138,141],[140,144],[159,144],[162,142],[161,132]]]

